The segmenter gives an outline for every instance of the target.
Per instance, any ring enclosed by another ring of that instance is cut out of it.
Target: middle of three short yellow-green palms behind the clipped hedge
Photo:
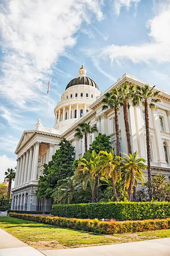
[[[120,156],[114,156],[114,151],[113,148],[109,153],[107,151],[100,151],[100,154],[103,154],[101,156],[100,160],[100,166],[101,169],[99,172],[101,172],[102,177],[112,178],[112,187],[114,191],[114,197],[115,200],[118,201],[119,197],[117,195],[116,191],[116,182],[119,181],[121,177],[121,172],[120,172],[120,163],[121,163],[121,158]]]

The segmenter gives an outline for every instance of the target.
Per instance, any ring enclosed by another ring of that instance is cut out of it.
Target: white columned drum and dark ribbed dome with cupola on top
[[[86,115],[89,106],[100,95],[97,84],[86,77],[86,69],[81,65],[79,77],[72,79],[61,95],[61,102],[54,110],[55,125],[57,130],[65,130],[66,126],[73,124],[78,118]]]

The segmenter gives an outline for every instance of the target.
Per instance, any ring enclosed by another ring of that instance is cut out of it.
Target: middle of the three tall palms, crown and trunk
[[[118,87],[118,90],[119,90],[119,102],[120,102],[120,105],[123,106],[124,125],[126,130],[128,152],[129,154],[132,154],[127,108],[130,107],[129,101],[132,100],[134,95],[134,84],[124,83],[122,86]]]

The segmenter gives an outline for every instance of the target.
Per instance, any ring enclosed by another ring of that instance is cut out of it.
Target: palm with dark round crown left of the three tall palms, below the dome
[[[82,139],[84,138],[85,141],[85,153],[87,152],[87,134],[97,132],[96,126],[91,126],[89,123],[80,123],[79,127],[76,128],[76,133],[74,134],[75,137]]]

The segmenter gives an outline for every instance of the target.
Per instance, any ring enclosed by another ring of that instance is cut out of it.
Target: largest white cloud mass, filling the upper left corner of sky
[[[95,14],[102,19],[100,0],[7,0],[1,5],[3,97],[20,107],[43,94],[51,65],[76,44],[74,33]]]

